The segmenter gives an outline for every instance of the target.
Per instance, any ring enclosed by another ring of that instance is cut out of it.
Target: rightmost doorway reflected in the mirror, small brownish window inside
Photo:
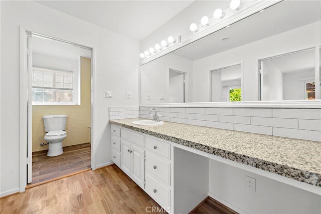
[[[259,61],[261,100],[315,99],[314,48]]]

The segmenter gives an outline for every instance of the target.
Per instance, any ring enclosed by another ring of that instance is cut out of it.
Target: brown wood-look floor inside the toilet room
[[[48,150],[33,152],[31,185],[91,168],[90,143],[63,147],[63,150],[63,154],[55,157],[48,157]]]

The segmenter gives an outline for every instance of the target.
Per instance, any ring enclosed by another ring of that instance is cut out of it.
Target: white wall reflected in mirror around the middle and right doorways
[[[320,23],[312,23],[194,61],[193,71],[197,72],[193,72],[193,97],[198,97],[194,101],[209,101],[209,71],[239,63],[243,63],[244,71],[243,100],[258,100],[258,60],[314,47],[319,44]]]

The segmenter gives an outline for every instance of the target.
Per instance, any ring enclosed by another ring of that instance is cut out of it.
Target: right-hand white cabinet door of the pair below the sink
[[[131,158],[132,158],[132,178],[136,183],[144,188],[144,174],[145,174],[145,151],[137,146],[131,144]]]

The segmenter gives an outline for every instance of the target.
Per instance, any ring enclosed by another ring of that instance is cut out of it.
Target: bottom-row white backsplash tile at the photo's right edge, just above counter
[[[280,137],[289,137],[289,138],[296,138],[296,139],[302,139],[302,140],[312,140],[312,141],[321,142],[321,132],[320,131],[273,127],[273,135],[280,136]]]

